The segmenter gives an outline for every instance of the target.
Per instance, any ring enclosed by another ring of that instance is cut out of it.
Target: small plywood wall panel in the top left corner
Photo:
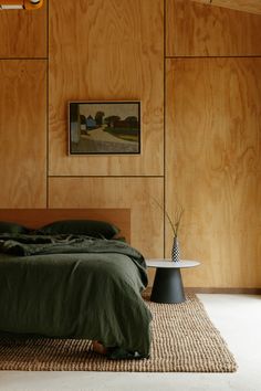
[[[0,12],[0,57],[46,56],[46,6],[34,11],[2,10]]]

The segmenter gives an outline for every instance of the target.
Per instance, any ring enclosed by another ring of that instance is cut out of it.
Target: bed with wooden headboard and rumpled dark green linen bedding
[[[0,221],[18,225],[3,232],[0,224],[0,334],[97,340],[111,358],[148,357],[146,264],[115,237],[129,241],[129,210],[0,210]],[[90,234],[93,228],[75,230],[75,222],[79,228],[90,220],[108,225],[101,233],[104,225],[96,224],[97,235]],[[58,225],[49,224],[54,221]],[[70,222],[73,232],[66,231]],[[121,226],[119,234],[112,226]]]

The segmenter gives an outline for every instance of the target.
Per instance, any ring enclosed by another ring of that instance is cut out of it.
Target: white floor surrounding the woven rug
[[[236,373],[0,371],[0,391],[261,391],[261,296],[199,297],[236,357]]]

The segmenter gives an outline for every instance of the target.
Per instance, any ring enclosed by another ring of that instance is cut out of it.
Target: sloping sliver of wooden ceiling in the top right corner
[[[251,12],[261,14],[260,0],[190,0],[203,4],[230,8],[242,12]]]

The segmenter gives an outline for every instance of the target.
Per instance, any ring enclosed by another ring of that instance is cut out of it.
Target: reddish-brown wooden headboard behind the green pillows
[[[0,221],[38,229],[56,220],[101,220],[121,229],[130,243],[130,209],[0,209]]]

